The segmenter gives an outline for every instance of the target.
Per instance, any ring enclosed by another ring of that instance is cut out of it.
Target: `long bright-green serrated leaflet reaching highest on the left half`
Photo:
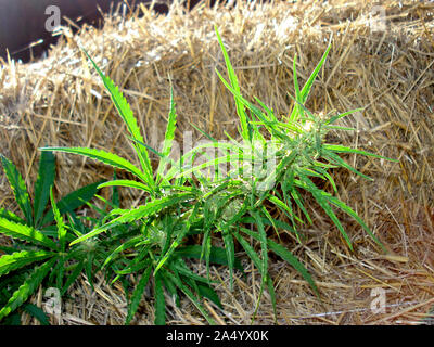
[[[98,74],[100,75],[106,90],[112,97],[112,101],[115,104],[120,117],[124,119],[125,125],[127,126],[127,129],[129,133],[132,136],[132,138],[137,141],[144,142],[143,137],[140,133],[140,128],[137,124],[137,120],[135,118],[135,115],[131,111],[131,107],[129,106],[127,100],[123,95],[123,93],[119,91],[119,89],[114,85],[113,80],[110,79],[104,75],[103,72],[98,67],[98,65],[93,62],[93,60],[89,56],[89,54],[84,51],[87,57],[90,60],[92,63],[93,67],[97,69]],[[144,147],[135,145],[137,150],[137,154],[139,156],[139,160],[142,165],[143,171],[145,179],[144,181],[150,184],[151,187],[154,187],[154,180],[152,177],[152,166],[151,166],[151,160],[148,154],[148,151]]]

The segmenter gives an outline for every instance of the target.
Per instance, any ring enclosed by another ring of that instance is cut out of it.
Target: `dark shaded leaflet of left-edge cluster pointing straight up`
[[[37,228],[50,196],[50,188],[54,183],[55,156],[52,152],[42,152],[39,159],[38,178],[35,182],[34,220]]]

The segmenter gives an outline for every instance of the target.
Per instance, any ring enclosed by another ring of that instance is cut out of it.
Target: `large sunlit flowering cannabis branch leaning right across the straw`
[[[336,208],[353,217],[374,242],[383,247],[348,205],[317,183],[327,181],[336,192],[337,188],[330,170],[339,167],[369,179],[349,166],[340,154],[353,153],[392,160],[366,151],[327,143],[326,134],[332,129],[354,130],[336,126],[334,123],[361,108],[327,116],[312,114],[306,108],[306,100],[326,62],[330,46],[303,88],[298,86],[296,56],[294,57],[295,95],[290,95],[294,102],[293,108],[286,117],[278,117],[277,113],[259,99],[255,98],[255,105],[241,94],[237,75],[217,28],[216,33],[229,81],[218,70],[216,73],[234,97],[240,119],[239,139],[233,139],[227,133],[227,140],[217,141],[196,128],[209,142],[183,153],[179,160],[170,159],[177,121],[173,90],[170,89],[165,142],[163,149],[157,151],[144,143],[127,100],[85,52],[127,127],[130,144],[140,166],[102,150],[41,149],[84,155],[115,169],[126,170],[135,180],[114,179],[98,188],[128,187],[144,193],[143,204],[125,209],[114,206],[91,228],[80,234],[75,233],[76,237],[69,243],[69,246],[74,247],[86,243],[102,244],[103,240],[107,240],[107,248],[103,253],[103,257],[106,257],[101,266],[101,269],[110,274],[107,278],[112,283],[122,280],[129,285],[126,277],[136,275],[135,290],[131,296],[127,294],[126,323],[131,322],[148,285],[153,287],[155,297],[155,323],[162,324],[166,321],[165,293],[175,296],[177,304],[178,294],[183,293],[205,319],[214,323],[201,303],[203,297],[207,297],[220,305],[212,287],[209,265],[217,262],[228,266],[230,284],[233,287],[233,271],[242,269],[235,258],[237,244],[245,250],[261,275],[255,314],[263,291],[267,288],[277,316],[275,287],[268,270],[270,252],[294,267],[319,296],[306,267],[279,240],[276,241],[272,234],[268,233],[271,229],[279,239],[280,232],[285,230],[302,242],[304,236],[298,231],[299,224],[311,222],[304,201],[306,195],[312,196],[331,218],[350,249],[352,237],[340,222],[335,214]],[[209,156],[209,149],[218,150],[221,156]],[[150,152],[156,154],[159,160],[155,170],[151,165]],[[205,163],[197,164],[197,159],[206,155],[208,158]],[[214,175],[209,175],[210,169],[214,169]],[[279,214],[272,214],[271,208]],[[58,228],[59,224],[58,222]],[[192,235],[199,237],[193,239]],[[192,240],[197,239],[201,240],[201,245],[191,244]],[[214,246],[213,240],[216,239],[225,245],[224,249]],[[259,247],[256,247],[256,242]],[[207,277],[197,275],[190,268],[188,258],[204,259]]]

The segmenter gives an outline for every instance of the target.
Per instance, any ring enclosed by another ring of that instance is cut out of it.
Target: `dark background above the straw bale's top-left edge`
[[[54,44],[53,25],[68,25],[73,33],[89,24],[102,27],[108,13],[130,14],[140,4],[167,14],[173,0],[0,0],[0,56],[29,62],[38,59]],[[184,0],[187,10],[197,4],[214,7],[228,2],[219,0]],[[60,23],[56,23],[56,21]],[[67,18],[67,20],[66,20]],[[71,22],[72,21],[72,22]],[[73,25],[72,25],[73,23]]]

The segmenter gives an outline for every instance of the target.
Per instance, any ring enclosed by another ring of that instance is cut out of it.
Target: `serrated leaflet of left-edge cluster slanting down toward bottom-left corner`
[[[20,307],[38,288],[58,258],[52,258],[36,268],[28,279],[12,294],[9,301],[0,310],[0,320]]]

